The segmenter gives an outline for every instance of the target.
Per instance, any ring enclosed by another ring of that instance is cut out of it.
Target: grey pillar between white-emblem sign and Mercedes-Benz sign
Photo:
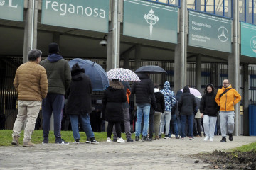
[[[187,6],[186,1],[181,1],[181,9],[179,10],[179,33],[178,43],[174,50],[174,93],[183,86],[186,86],[187,64],[186,64],[186,44],[187,44]]]

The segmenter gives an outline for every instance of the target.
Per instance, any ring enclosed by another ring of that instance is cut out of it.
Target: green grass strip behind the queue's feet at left
[[[11,146],[11,137],[12,130],[0,130],[0,146]],[[19,139],[20,145],[23,144],[23,131],[21,132],[21,137]],[[95,139],[97,141],[105,141],[107,140],[107,132],[95,132]],[[73,132],[72,131],[61,131],[61,136],[65,141],[74,142]],[[122,133],[122,138],[125,138],[125,134]],[[132,138],[134,138],[134,134],[132,134]],[[85,132],[80,132],[80,142],[85,142],[86,135]],[[35,130],[32,135],[31,142],[35,144],[40,144],[43,141],[43,130]],[[50,131],[49,142],[54,143],[55,137],[53,135],[53,131]]]

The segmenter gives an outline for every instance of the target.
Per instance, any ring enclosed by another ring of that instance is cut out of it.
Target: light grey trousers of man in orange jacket
[[[220,130],[221,136],[225,137],[228,134],[233,133],[235,125],[235,112],[234,111],[220,111]]]

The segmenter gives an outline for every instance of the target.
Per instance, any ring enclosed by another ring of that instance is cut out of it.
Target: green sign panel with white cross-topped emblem
[[[124,0],[123,35],[177,43],[178,8],[143,0]]]

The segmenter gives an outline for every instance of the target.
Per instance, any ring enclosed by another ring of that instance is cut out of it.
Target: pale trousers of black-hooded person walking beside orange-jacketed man
[[[217,117],[203,115],[203,127],[208,137],[214,137]]]

